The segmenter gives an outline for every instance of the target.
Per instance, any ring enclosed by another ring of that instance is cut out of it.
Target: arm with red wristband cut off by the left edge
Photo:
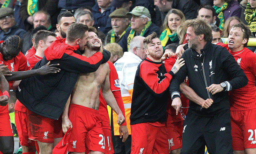
[[[2,72],[0,72],[0,89],[3,93],[3,95],[0,96],[0,106],[6,106],[9,100],[9,84]]]

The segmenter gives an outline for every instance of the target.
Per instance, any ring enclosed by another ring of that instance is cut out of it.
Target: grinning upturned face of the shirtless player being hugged
[[[101,40],[99,39],[99,37],[97,36],[96,33],[90,31],[88,33],[89,35],[89,42],[87,44],[87,47],[90,51],[99,51],[100,47],[102,45]]]

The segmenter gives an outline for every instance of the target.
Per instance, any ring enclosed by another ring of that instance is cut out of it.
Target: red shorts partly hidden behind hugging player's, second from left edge
[[[26,112],[20,112],[15,110],[15,125],[20,139],[20,145],[23,146],[34,146],[35,141],[28,138],[27,128],[27,114]]]

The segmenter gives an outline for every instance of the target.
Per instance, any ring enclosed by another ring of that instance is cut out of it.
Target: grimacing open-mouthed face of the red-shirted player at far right
[[[242,32],[241,28],[233,27],[230,29],[229,32],[229,42],[228,46],[231,51],[240,51],[244,48],[244,44],[248,41],[244,37],[244,33]]]

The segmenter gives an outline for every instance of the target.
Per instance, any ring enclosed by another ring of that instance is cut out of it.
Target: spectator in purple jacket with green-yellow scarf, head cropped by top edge
[[[224,23],[229,17],[236,16],[240,18],[242,7],[236,0],[214,0],[213,8],[220,19],[220,30],[224,28]]]

